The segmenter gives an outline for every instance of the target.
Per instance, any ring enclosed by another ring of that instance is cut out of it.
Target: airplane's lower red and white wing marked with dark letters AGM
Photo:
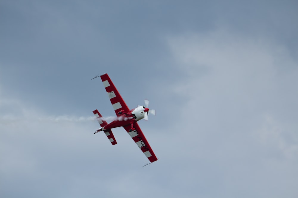
[[[149,159],[150,162],[157,160],[155,154],[152,151],[152,148],[150,147],[148,141],[146,140],[145,135],[140,129],[140,126],[138,123],[136,122],[134,123],[135,130],[132,132],[129,132],[129,129],[131,129],[130,125],[123,126],[123,128],[128,132],[128,134],[131,136],[134,142],[136,142],[136,145],[139,146],[141,151],[145,154],[145,156]]]

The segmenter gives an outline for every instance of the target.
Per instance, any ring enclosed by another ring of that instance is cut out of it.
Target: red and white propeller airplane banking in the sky
[[[149,101],[145,100],[145,106],[138,106],[132,110],[128,108],[128,106],[125,104],[124,100],[122,99],[121,95],[117,91],[115,85],[111,81],[108,74],[104,74],[101,76],[96,76],[94,78],[100,77],[103,81],[103,85],[105,87],[105,90],[108,94],[108,97],[112,103],[112,106],[115,110],[115,113],[117,115],[117,119],[112,121],[111,123],[107,123],[103,116],[100,115],[98,110],[94,110],[93,113],[95,117],[97,118],[98,123],[100,124],[101,128],[97,129],[94,134],[97,132],[103,131],[105,135],[108,137],[108,139],[111,141],[112,145],[117,144],[115,137],[111,131],[111,129],[123,126],[123,128],[128,132],[128,134],[131,136],[131,138],[136,142],[136,144],[139,146],[141,151],[145,154],[145,156],[149,159],[150,163],[153,161],[156,161],[157,158],[155,154],[153,153],[148,141],[146,140],[142,130],[139,127],[139,124],[137,121],[141,119],[148,120],[148,112],[155,115],[155,110],[149,110],[148,104]],[[92,78],[92,79],[94,79]],[[92,80],[91,79],[91,80]],[[149,164],[150,164],[149,163]],[[148,164],[146,164],[148,165]],[[145,165],[145,166],[146,166]]]

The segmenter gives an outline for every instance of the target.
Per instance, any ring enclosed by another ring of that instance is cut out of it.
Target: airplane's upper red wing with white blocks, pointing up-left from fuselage
[[[108,74],[101,75],[100,78],[103,81],[103,85],[105,86],[105,90],[107,91],[116,115],[119,116],[118,112],[121,110],[124,110],[125,113],[129,112],[128,106],[122,99]]]

